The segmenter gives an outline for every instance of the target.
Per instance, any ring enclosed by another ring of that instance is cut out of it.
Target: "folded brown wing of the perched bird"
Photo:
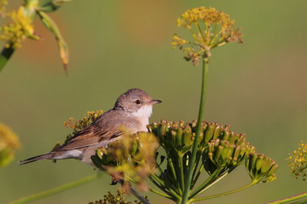
[[[110,138],[118,137],[122,134],[118,121],[108,121],[104,125],[92,123],[80,132],[76,133],[64,145],[56,149],[56,151],[71,150],[81,147],[88,147],[99,142],[109,140]]]

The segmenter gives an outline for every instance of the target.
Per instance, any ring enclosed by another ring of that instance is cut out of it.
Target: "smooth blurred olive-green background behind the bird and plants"
[[[9,3],[13,9],[23,1]],[[14,162],[0,169],[0,203],[94,173],[77,160],[23,166],[17,161],[50,151],[70,133],[63,121],[107,111],[127,89],[138,87],[163,101],[154,106],[150,122],[196,119],[201,68],[185,62],[170,43],[175,32],[187,33],[176,27],[177,18],[198,6],[223,10],[244,33],[244,44],[212,51],[204,119],[246,133],[259,153],[280,166],[274,182],[199,203],[263,203],[306,191],[306,181],[288,173],[285,158],[301,140],[307,142],[307,1],[76,0],[50,14],[69,45],[68,77],[53,36],[38,19],[35,30],[44,39],[25,40],[1,72],[0,120],[19,135],[23,147]],[[204,195],[249,181],[240,166]],[[116,192],[118,186],[110,182],[105,176],[33,203],[88,203]],[[169,203],[145,194],[152,203]]]

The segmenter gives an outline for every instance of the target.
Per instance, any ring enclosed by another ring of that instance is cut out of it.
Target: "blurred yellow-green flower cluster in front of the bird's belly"
[[[157,138],[152,133],[125,133],[121,139],[99,147],[93,163],[107,170],[116,181],[131,180],[142,190],[147,189],[145,180],[156,165]],[[124,182],[121,189],[128,190],[129,183]]]

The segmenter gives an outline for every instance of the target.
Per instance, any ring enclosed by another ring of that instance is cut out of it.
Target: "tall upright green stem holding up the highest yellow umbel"
[[[192,174],[194,170],[193,167],[194,167],[195,159],[196,159],[197,146],[198,146],[198,142],[200,139],[201,122],[203,120],[203,115],[204,115],[207,72],[208,72],[208,65],[205,62],[205,55],[206,53],[204,53],[204,56],[203,56],[203,75],[202,75],[202,86],[201,86],[201,95],[200,95],[200,106],[199,106],[199,112],[198,112],[198,122],[196,126],[196,136],[193,142],[191,158],[189,159],[190,161],[189,161],[189,167],[188,167],[188,175],[186,176],[186,179],[185,179],[185,191],[182,195],[181,204],[186,204],[188,201],[188,196],[189,196],[191,182],[192,182]]]

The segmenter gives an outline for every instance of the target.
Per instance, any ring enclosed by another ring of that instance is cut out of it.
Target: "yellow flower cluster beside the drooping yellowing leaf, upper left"
[[[6,47],[18,48],[21,46],[21,42],[26,37],[32,39],[39,39],[34,35],[34,28],[30,17],[25,16],[24,6],[20,6],[17,11],[12,10],[6,13],[6,16],[10,17],[13,22],[6,25],[2,25],[0,30],[3,34],[0,35],[0,39],[4,41],[10,41],[6,43]]]

